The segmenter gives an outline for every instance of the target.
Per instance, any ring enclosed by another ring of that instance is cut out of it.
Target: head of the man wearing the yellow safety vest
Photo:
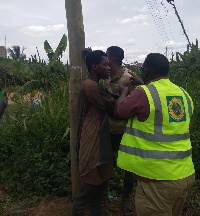
[[[159,77],[167,77],[169,71],[168,59],[160,53],[147,55],[142,67],[142,79],[144,83]]]

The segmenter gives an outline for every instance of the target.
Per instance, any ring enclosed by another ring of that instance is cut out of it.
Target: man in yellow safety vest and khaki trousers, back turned
[[[117,108],[128,119],[117,164],[138,180],[137,216],[180,216],[195,181],[189,134],[193,102],[168,79],[168,70],[164,55],[147,55],[141,67],[144,85]]]

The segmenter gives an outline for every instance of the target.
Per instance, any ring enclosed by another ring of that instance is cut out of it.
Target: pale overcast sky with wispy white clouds
[[[200,39],[200,0],[175,0],[190,42]],[[172,5],[166,0],[82,0],[86,47],[112,45],[125,51],[124,62],[143,62],[150,52],[170,58],[184,52],[187,40]],[[25,47],[27,57],[46,59],[45,40],[55,49],[67,35],[64,0],[0,0],[0,46]],[[200,43],[200,40],[199,40]],[[68,59],[65,52],[63,62]]]

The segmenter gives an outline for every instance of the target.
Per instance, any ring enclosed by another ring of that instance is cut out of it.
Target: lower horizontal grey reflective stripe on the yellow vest
[[[119,150],[131,155],[152,159],[183,159],[192,155],[192,148],[187,151],[155,151],[120,145]]]

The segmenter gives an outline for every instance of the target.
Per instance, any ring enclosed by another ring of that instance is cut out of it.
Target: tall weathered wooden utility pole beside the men
[[[77,102],[80,84],[86,76],[85,59],[82,54],[82,51],[85,48],[85,32],[81,0],[65,0],[65,9],[69,40],[70,153],[72,197],[74,198],[80,189],[80,177],[76,160]]]

